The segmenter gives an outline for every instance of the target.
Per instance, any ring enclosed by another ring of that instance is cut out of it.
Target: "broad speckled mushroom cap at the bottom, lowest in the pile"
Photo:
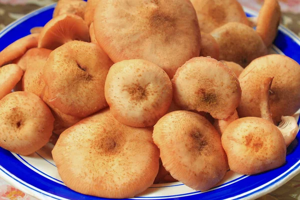
[[[63,182],[80,193],[133,197],[149,187],[159,151],[150,128],[123,125],[109,109],[87,117],[59,136],[52,156]]]

